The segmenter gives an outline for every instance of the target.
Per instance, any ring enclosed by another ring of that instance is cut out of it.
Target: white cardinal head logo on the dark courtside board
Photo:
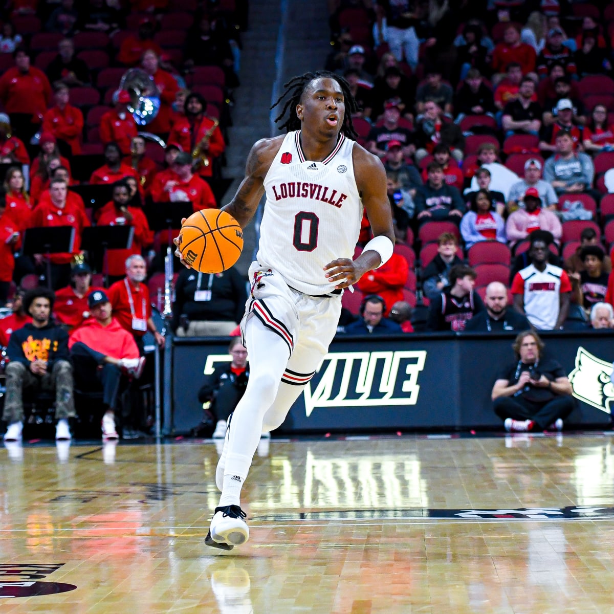
[[[611,362],[593,356],[580,346],[576,354],[575,369],[569,374],[573,396],[611,414],[614,385],[610,381],[610,373]]]

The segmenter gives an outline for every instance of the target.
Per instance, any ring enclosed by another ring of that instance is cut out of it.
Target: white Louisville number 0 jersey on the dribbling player
[[[324,266],[354,257],[363,207],[353,147],[354,141],[340,134],[330,155],[314,162],[305,159],[300,131],[290,132],[266,173],[256,258],[300,292],[331,292],[334,284],[324,277]]]

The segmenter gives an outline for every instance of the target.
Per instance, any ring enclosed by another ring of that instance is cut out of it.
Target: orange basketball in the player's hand
[[[222,273],[239,259],[243,230],[230,213],[219,209],[196,211],[181,227],[179,251],[201,273]]]

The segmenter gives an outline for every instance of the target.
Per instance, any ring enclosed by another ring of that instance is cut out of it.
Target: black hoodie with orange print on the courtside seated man
[[[42,328],[26,324],[10,335],[7,354],[11,362],[26,367],[36,359],[47,360],[51,371],[56,360],[69,360],[68,333],[52,321]]]

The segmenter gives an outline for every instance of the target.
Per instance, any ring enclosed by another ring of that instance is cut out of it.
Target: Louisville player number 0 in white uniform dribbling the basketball
[[[343,290],[383,265],[393,249],[386,173],[375,155],[349,138],[356,138],[351,114],[357,105],[347,82],[330,72],[308,72],[291,79],[274,106],[284,99],[276,122],[288,112],[281,125],[286,136],[254,144],[246,177],[222,209],[244,228],[266,192],[241,321],[251,373],[228,419],[216,470],[222,495],[205,540],[222,550],[249,537],[239,495],[260,433],[282,424],[327,353]],[[363,207],[374,238],[353,260]]]

